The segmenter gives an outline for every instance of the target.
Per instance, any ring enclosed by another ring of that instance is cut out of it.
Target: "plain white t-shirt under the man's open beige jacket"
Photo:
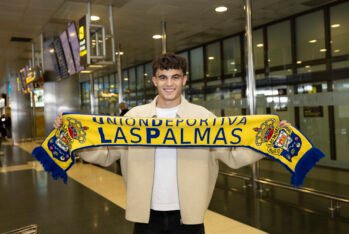
[[[156,115],[158,118],[175,118],[177,110],[178,106],[168,109],[156,108]],[[179,210],[176,148],[155,148],[151,209],[159,211]]]

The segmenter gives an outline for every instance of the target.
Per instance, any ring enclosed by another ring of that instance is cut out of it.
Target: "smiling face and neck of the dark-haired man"
[[[158,69],[152,80],[159,92],[158,104],[165,108],[180,104],[182,88],[187,82],[187,76],[183,74],[181,69]]]

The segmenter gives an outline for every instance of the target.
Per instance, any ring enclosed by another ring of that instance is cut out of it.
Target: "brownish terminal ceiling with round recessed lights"
[[[6,80],[35,56],[40,57],[40,34],[58,36],[70,21],[77,22],[87,12],[88,0],[1,0],[0,1],[0,80]],[[160,22],[167,24],[168,51],[179,51],[244,30],[243,0],[91,0],[91,13],[98,23],[108,22],[108,5],[113,5],[115,38],[120,41],[122,65],[151,60],[161,51]],[[312,9],[331,0],[256,0],[254,26]],[[225,5],[228,11],[216,13]],[[108,33],[108,32],[107,32]],[[13,42],[24,37],[32,42]],[[5,78],[5,79],[4,79]]]

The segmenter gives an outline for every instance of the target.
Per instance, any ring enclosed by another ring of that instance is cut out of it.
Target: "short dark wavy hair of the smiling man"
[[[182,56],[174,53],[162,54],[153,61],[153,76],[155,76],[158,69],[178,69],[182,70],[183,74],[185,75],[187,72],[187,61]]]

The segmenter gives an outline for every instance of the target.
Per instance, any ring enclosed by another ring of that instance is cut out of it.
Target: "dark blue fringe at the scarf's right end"
[[[325,157],[325,154],[315,147],[306,152],[297,163],[295,171],[291,177],[291,184],[296,187],[301,186],[306,174],[323,157]]]

